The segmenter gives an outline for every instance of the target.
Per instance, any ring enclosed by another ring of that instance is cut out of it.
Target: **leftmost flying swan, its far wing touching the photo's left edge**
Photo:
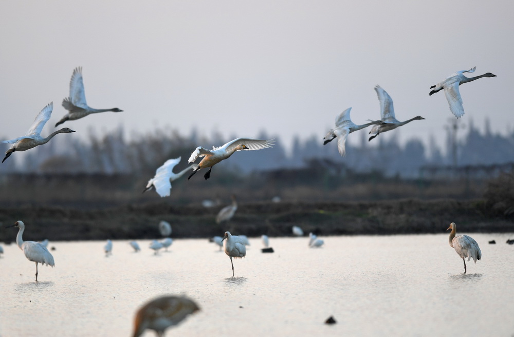
[[[0,142],[12,144],[9,150],[5,152],[5,157],[2,163],[5,162],[5,159],[7,159],[14,151],[26,151],[38,145],[46,144],[48,143],[48,141],[50,141],[50,139],[53,138],[53,136],[57,135],[58,133],[75,132],[68,128],[62,128],[61,130],[54,131],[46,138],[41,137],[41,131],[43,131],[43,127],[45,126],[48,119],[50,119],[52,110],[53,102],[50,102],[50,104],[44,107],[43,110],[41,110],[41,112],[37,116],[35,116],[35,119],[32,122],[32,125],[30,126],[30,129],[29,131],[27,131],[25,136],[17,137],[10,140],[3,140],[2,142]]]

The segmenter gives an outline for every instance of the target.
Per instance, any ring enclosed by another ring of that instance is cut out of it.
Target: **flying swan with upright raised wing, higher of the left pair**
[[[86,95],[84,93],[84,83],[82,81],[82,67],[73,70],[71,80],[69,81],[69,97],[63,99],[63,107],[69,112],[56,123],[56,127],[67,120],[75,120],[98,112],[122,112],[118,108],[112,109],[93,109],[87,105]]]

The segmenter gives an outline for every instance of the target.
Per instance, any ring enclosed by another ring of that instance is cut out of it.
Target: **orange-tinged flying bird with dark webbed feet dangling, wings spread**
[[[212,167],[221,162],[223,159],[230,157],[235,151],[241,150],[260,150],[265,148],[272,148],[274,140],[264,139],[252,139],[252,138],[236,138],[229,141],[227,144],[220,147],[212,147],[212,150],[207,150],[201,146],[197,147],[196,150],[191,153],[189,157],[189,163],[194,163],[196,158],[204,157],[201,159],[199,164],[193,165],[193,172],[189,175],[188,180],[191,179],[193,174],[199,169],[209,167],[209,171],[204,174],[205,180],[209,179],[211,175]]]

